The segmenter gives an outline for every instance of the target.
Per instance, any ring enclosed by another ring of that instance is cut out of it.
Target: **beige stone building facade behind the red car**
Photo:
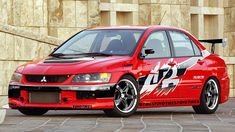
[[[235,97],[234,0],[0,0],[0,95],[14,69],[46,56],[72,34],[95,26],[168,25],[198,39],[228,38],[226,60]],[[209,48],[209,46],[207,46]]]

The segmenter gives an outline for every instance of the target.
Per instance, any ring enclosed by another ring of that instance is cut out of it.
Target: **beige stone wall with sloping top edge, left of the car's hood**
[[[7,95],[17,66],[48,55],[61,41],[45,35],[0,25],[0,95]]]

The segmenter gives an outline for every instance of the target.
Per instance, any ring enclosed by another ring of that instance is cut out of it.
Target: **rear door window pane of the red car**
[[[187,35],[177,31],[169,31],[176,57],[194,56],[191,40]]]

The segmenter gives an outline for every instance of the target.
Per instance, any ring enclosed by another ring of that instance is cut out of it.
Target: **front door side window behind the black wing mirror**
[[[154,54],[149,54],[145,58],[163,58],[170,57],[170,47],[165,31],[157,31],[149,35],[147,41],[144,44],[144,49],[153,49]]]

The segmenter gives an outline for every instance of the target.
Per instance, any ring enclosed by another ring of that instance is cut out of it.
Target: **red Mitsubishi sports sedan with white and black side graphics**
[[[214,113],[228,100],[224,60],[190,33],[162,26],[83,30],[48,57],[18,67],[9,106],[25,115],[102,109],[130,116],[137,108],[192,106]]]

